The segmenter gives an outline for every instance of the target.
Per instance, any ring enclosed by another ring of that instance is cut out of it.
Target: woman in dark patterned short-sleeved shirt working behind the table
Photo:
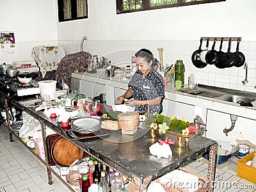
[[[144,105],[148,104],[151,113],[161,113],[164,83],[163,77],[152,68],[154,56],[148,49],[141,49],[135,56],[138,70],[128,84],[129,89],[116,99],[116,104],[133,96],[134,100],[127,100],[125,104],[135,107],[134,111],[145,111]]]

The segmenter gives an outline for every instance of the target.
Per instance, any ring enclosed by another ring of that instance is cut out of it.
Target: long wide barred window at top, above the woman
[[[116,0],[116,13],[140,12],[202,3],[216,3],[226,0]]]

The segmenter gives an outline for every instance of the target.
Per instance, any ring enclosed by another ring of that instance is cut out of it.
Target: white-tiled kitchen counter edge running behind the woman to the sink
[[[72,78],[92,81],[94,83],[113,86],[116,88],[122,87],[124,89],[128,88],[127,84],[129,83],[129,79],[123,81],[120,80],[120,77],[106,77],[102,70],[97,71],[95,74],[90,74],[88,72],[72,73]],[[253,107],[240,106],[240,104],[236,104],[234,102],[178,92],[175,88],[172,88],[170,84],[167,84],[166,86],[165,99],[175,100],[177,102],[190,104],[199,108],[212,109],[214,111],[220,111],[256,120],[256,101],[252,102]]]

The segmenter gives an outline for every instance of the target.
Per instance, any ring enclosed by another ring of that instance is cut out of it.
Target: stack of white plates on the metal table
[[[77,118],[71,123],[71,130],[81,133],[90,133],[99,131],[101,128],[101,121],[97,118],[84,117]]]

